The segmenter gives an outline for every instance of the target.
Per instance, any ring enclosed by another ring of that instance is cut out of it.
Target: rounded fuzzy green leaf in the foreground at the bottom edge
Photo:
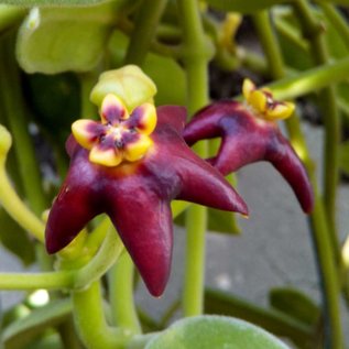
[[[154,337],[145,349],[286,349],[265,330],[225,316],[182,319]]]

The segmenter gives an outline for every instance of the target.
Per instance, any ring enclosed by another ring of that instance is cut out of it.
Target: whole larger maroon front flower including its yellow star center
[[[70,166],[46,227],[46,248],[67,246],[95,216],[116,226],[151,294],[166,285],[172,255],[173,199],[248,214],[244,201],[185,143],[182,107],[143,103],[131,113],[114,95],[101,122],[78,120],[67,151]]]

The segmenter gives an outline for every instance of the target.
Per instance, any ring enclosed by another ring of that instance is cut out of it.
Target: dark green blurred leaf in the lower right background
[[[316,326],[320,317],[318,305],[295,288],[273,288],[269,293],[271,306],[306,325]]]

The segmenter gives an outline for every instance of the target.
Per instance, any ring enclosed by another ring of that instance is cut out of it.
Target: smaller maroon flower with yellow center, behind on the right
[[[292,114],[294,105],[275,101],[268,89],[244,80],[247,103],[223,100],[199,110],[185,127],[183,137],[193,145],[199,140],[221,137],[216,157],[209,162],[223,175],[243,165],[269,161],[293,188],[305,212],[313,208],[313,192],[306,171],[276,121]]]

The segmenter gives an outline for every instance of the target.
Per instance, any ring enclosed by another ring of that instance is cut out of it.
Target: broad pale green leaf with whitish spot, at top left
[[[103,54],[118,18],[114,2],[81,8],[33,8],[22,23],[17,57],[28,73],[87,72]]]

